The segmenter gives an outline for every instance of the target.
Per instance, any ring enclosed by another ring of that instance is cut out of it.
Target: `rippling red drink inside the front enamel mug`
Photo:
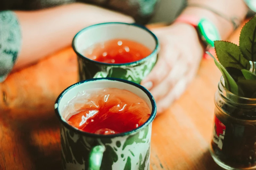
[[[81,100],[85,103],[78,104],[81,107],[78,106],[76,114],[71,113],[74,115],[68,123],[85,132],[103,135],[128,132],[144,124],[150,116],[146,102],[127,90],[97,89],[84,96]]]

